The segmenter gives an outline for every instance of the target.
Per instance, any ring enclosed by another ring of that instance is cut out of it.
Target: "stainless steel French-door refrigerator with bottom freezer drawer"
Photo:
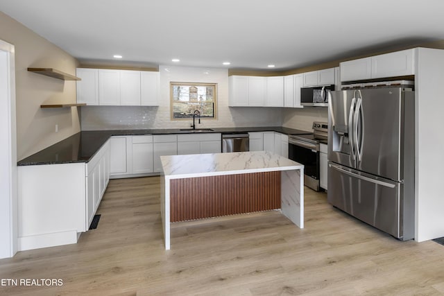
[[[414,92],[330,92],[328,201],[401,240],[414,237]]]

